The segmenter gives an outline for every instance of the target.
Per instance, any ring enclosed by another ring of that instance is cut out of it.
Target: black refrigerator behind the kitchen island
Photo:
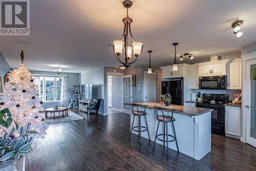
[[[172,103],[183,105],[183,80],[162,81],[162,95],[170,94]]]

